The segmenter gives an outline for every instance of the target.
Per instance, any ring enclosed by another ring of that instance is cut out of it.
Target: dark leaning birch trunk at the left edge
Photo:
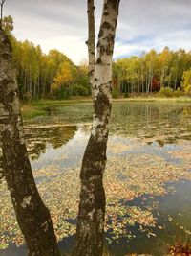
[[[0,143],[3,172],[29,256],[59,256],[50,212],[40,198],[24,139],[11,44],[0,27]]]

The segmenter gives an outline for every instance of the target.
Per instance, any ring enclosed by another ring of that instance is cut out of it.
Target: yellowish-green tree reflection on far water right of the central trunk
[[[164,143],[190,139],[191,105],[168,103],[124,103],[114,105],[112,132]]]

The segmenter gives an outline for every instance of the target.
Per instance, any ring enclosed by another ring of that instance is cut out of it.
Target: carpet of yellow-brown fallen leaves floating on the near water
[[[141,142],[146,144],[147,142]],[[121,141],[109,143],[108,163],[105,172],[104,185],[107,196],[105,230],[110,234],[109,243],[118,241],[121,237],[131,239],[135,234],[131,226],[138,224],[138,230],[145,232],[147,237],[155,237],[149,227],[158,226],[158,218],[152,213],[157,208],[158,202],[153,201],[150,206],[140,207],[129,205],[129,201],[149,195],[152,200],[156,196],[164,196],[173,193],[167,182],[181,179],[191,180],[191,144],[180,141],[180,150],[168,151],[173,157],[182,161],[180,165],[167,162],[158,155],[149,153],[128,154],[140,144],[134,141],[132,145],[123,144]],[[121,154],[123,153],[124,154]],[[56,156],[57,157],[57,156]],[[63,153],[60,159],[67,158]],[[77,168],[65,169],[63,173],[56,161],[44,168],[34,170],[35,179],[46,176],[37,184],[39,193],[46,205],[49,207],[53,219],[53,225],[58,240],[74,235],[75,219],[79,201],[79,172],[80,163]],[[144,204],[144,198],[142,198]],[[16,245],[24,244],[23,236],[15,221],[11,198],[4,179],[0,183],[0,247],[5,248],[10,243]],[[169,216],[168,221],[172,221]],[[179,225],[179,223],[178,223]],[[190,235],[191,231],[180,226],[185,233]]]

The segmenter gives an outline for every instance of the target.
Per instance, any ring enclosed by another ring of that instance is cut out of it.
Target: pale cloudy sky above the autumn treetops
[[[95,0],[96,34],[102,0]],[[57,49],[75,64],[87,58],[86,0],[6,0],[4,15],[14,20],[13,34]],[[191,50],[191,0],[120,0],[114,58],[140,55],[165,46]]]

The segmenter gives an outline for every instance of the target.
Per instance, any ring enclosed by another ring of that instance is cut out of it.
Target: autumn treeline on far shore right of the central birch
[[[168,87],[183,89],[183,76],[191,70],[191,52],[151,50],[140,57],[118,59],[113,64],[115,87],[119,93],[149,93]],[[190,81],[191,84],[191,81]]]

